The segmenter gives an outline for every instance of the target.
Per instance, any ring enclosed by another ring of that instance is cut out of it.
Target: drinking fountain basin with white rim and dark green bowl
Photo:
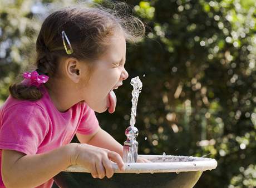
[[[126,170],[120,171],[113,163],[115,174],[111,179],[93,179],[90,170],[84,167],[73,165],[65,172],[72,173],[73,183],[60,182],[62,187],[193,187],[199,180],[203,171],[213,170],[217,166],[214,159],[193,156],[174,155],[139,155],[151,162],[147,163],[126,163]],[[87,173],[81,173],[87,172]],[[60,175],[61,176],[61,175]],[[55,180],[58,177],[55,177]],[[63,178],[62,178],[63,180]]]

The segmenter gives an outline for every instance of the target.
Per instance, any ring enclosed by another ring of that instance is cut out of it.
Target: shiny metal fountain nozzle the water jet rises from
[[[125,130],[125,135],[127,139],[124,142],[123,160],[124,162],[136,162],[139,145],[136,138],[139,135],[139,131],[135,126],[129,126]]]

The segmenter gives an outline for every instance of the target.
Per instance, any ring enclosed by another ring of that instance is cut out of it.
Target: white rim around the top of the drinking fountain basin
[[[120,171],[116,163],[113,162],[112,166],[115,173],[160,173],[160,172],[189,172],[189,171],[206,171],[213,170],[218,165],[215,159],[206,157],[194,156],[178,156],[178,155],[139,155],[146,159],[154,159],[155,157],[188,157],[194,161],[178,161],[178,162],[133,162],[125,163],[125,171]],[[90,170],[85,167],[72,165],[67,167],[67,172],[87,172]]]

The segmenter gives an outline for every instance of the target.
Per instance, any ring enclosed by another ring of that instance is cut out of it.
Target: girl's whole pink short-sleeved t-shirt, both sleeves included
[[[0,108],[0,160],[2,149],[26,155],[46,153],[70,143],[75,133],[92,134],[99,128],[94,111],[85,102],[61,113],[45,87],[42,90],[45,94],[40,100],[17,100],[9,96]],[[0,177],[2,188],[2,175]],[[39,187],[48,188],[52,184],[50,179]]]

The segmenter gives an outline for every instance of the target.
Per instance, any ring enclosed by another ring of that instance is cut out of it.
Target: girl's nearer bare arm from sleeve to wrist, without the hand
[[[71,165],[72,145],[46,154],[25,155],[14,150],[2,151],[2,179],[6,187],[36,187]]]

